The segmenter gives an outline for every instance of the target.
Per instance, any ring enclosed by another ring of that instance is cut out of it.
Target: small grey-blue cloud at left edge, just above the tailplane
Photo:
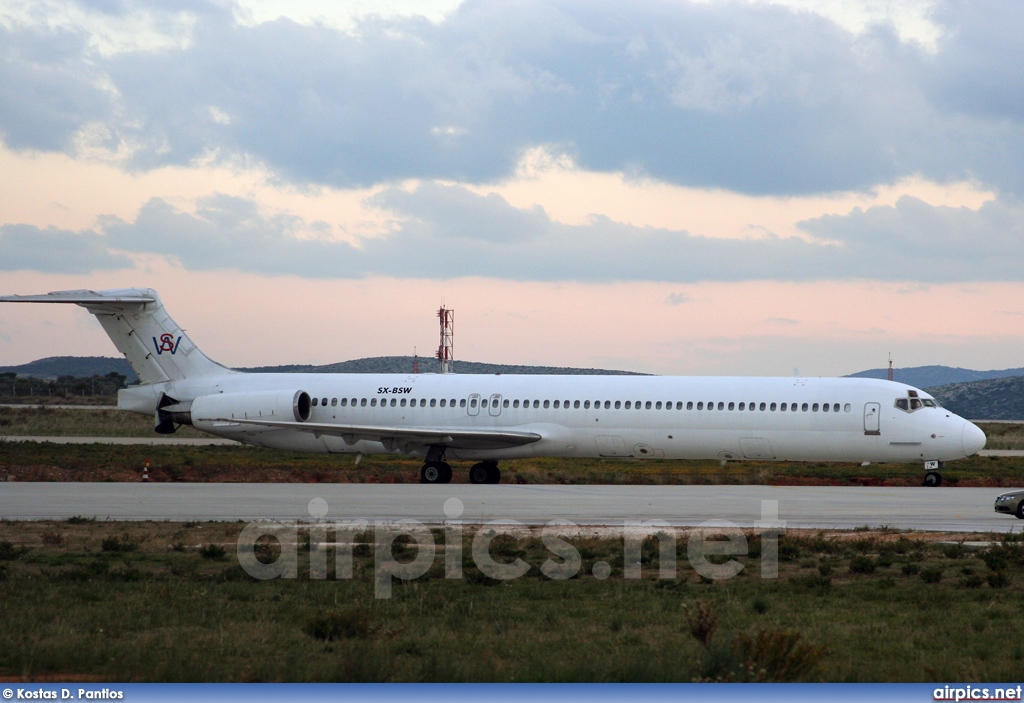
[[[41,229],[27,224],[0,226],[0,271],[91,273],[129,268],[132,261],[112,253],[95,232]]]

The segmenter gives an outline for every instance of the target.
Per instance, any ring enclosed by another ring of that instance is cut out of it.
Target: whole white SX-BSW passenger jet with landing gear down
[[[458,374],[250,374],[210,360],[151,289],[0,297],[96,316],[138,375],[118,407],[245,444],[423,457],[420,479],[498,483],[538,456],[922,464],[977,453],[985,434],[928,393],[877,379]]]

